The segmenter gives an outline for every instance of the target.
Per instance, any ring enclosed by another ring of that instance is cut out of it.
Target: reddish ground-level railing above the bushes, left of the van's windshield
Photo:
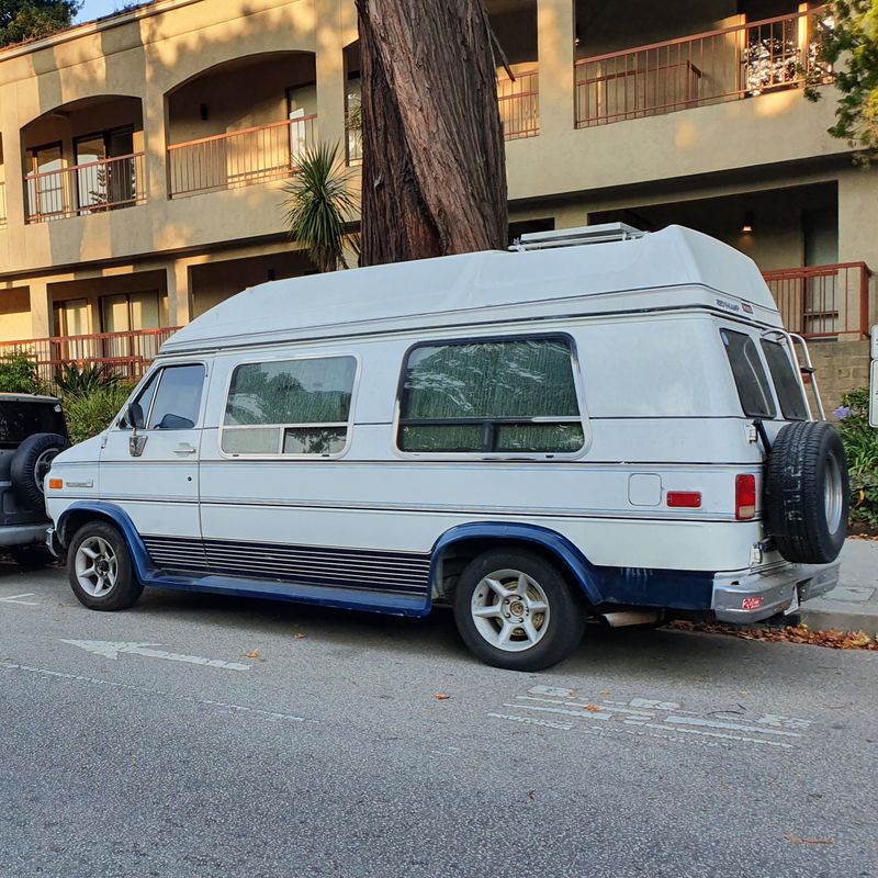
[[[27,341],[0,341],[0,359],[24,353],[36,363],[40,376],[49,384],[67,363],[103,365],[125,379],[139,379],[155,360],[159,348],[179,329],[131,329],[88,336],[59,336]]]

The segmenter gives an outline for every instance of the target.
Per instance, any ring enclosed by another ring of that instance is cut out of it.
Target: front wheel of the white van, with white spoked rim
[[[127,609],[144,590],[125,539],[106,521],[89,521],[77,531],[67,555],[67,574],[80,604],[92,610]]]

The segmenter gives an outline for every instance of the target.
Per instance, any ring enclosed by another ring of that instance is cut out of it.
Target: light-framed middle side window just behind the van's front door
[[[333,455],[348,443],[353,357],[243,363],[223,418],[227,454]]]

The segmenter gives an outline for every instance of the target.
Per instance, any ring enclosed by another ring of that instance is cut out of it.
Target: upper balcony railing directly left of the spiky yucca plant
[[[171,198],[283,180],[316,143],[316,115],[168,147]]]

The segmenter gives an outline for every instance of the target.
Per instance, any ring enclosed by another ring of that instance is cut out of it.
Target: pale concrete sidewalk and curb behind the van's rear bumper
[[[802,604],[797,616],[814,631],[878,633],[878,542],[848,540],[838,585],[825,597]]]

